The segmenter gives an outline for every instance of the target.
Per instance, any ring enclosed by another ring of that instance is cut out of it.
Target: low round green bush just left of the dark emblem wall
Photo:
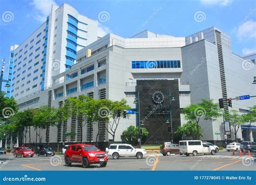
[[[147,132],[146,128],[143,128],[142,143],[146,142],[147,135],[149,135],[149,132]],[[123,131],[121,135],[121,139],[123,143],[129,143],[133,146],[138,145],[139,143],[138,138],[139,138],[139,128],[133,125],[129,126],[125,131]]]

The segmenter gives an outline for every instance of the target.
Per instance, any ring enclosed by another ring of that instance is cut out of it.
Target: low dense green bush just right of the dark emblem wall
[[[183,126],[179,126],[174,133],[181,140],[196,140],[198,138],[196,121],[188,121]],[[201,126],[199,125],[199,136],[203,136]]]

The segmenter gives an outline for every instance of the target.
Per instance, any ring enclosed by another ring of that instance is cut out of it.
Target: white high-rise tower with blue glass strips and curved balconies
[[[52,77],[69,70],[77,51],[97,38],[97,20],[68,4],[52,5],[46,21],[21,45],[11,46],[7,95],[21,99],[49,88]]]

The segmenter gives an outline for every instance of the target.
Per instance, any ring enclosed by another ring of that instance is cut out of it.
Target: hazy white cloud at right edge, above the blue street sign
[[[256,22],[248,20],[238,27],[237,36],[242,38],[256,38]]]

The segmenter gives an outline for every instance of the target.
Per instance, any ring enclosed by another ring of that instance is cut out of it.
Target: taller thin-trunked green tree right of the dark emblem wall
[[[195,121],[197,124],[197,139],[200,138],[199,121],[200,119],[215,121],[221,116],[219,104],[214,104],[213,100],[201,99],[198,104],[191,104],[182,109],[185,120],[188,122]]]

